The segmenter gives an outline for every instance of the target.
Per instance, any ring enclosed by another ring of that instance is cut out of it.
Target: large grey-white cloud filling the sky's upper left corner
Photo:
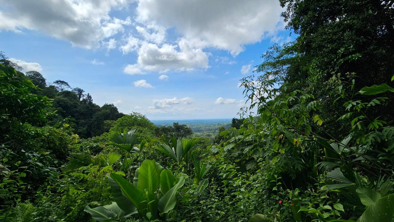
[[[132,0],[13,0],[3,2],[0,30],[22,32],[24,28],[71,42],[86,49],[99,47],[100,41],[124,31],[131,25],[110,17],[112,9],[127,7]]]

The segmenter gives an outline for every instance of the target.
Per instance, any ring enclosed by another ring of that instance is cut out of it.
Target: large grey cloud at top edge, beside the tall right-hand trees
[[[204,47],[228,50],[236,56],[244,50],[243,45],[274,35],[282,21],[281,11],[277,0],[215,0],[204,4],[196,0],[139,0],[137,20],[175,27],[188,41],[200,41]]]

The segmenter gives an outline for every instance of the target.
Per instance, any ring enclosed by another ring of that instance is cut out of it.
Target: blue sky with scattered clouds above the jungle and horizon
[[[155,119],[236,117],[284,29],[277,0],[0,0],[0,50],[47,83]]]

